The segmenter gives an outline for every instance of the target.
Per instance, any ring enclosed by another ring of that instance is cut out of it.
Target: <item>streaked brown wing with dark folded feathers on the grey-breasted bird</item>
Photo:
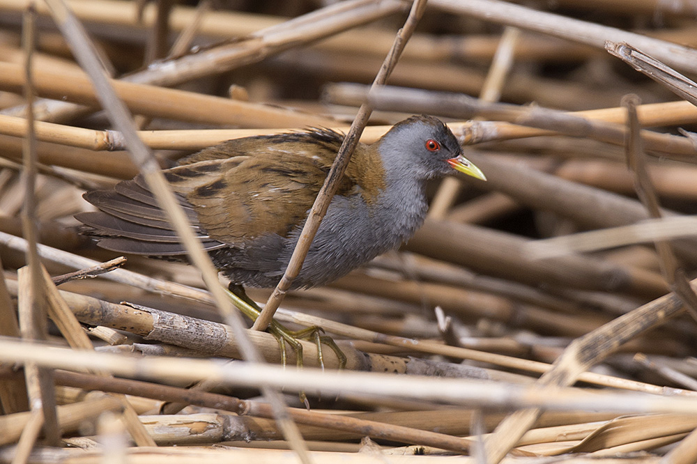
[[[164,171],[206,249],[243,246],[266,233],[286,235],[305,219],[341,138],[290,135],[228,141]],[[312,143],[293,143],[297,137]],[[339,194],[353,187],[347,179]],[[100,211],[77,219],[98,236],[101,247],[148,255],[185,253],[141,176],[111,191],[89,192],[85,199]]]

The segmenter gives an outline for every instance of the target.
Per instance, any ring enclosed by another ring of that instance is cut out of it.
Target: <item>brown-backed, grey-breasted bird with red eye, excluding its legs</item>
[[[343,139],[326,129],[233,139],[164,175],[216,268],[235,284],[273,287]],[[486,180],[430,116],[413,116],[374,144],[358,144],[293,288],[326,284],[411,238],[426,216],[427,180],[451,167]],[[76,217],[100,247],[186,260],[141,176],[84,198],[100,211]]]

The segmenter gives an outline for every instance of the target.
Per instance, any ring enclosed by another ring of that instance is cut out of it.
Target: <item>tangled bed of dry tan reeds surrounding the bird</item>
[[[697,462],[696,13],[0,0],[0,462]],[[309,341],[281,366],[194,245],[77,231],[84,191],[217,142],[420,113],[487,183],[434,183],[412,240],[328,287],[250,291],[345,369]]]

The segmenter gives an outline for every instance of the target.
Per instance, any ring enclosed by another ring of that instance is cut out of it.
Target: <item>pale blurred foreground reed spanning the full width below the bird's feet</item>
[[[634,315],[632,315],[634,316]],[[623,322],[623,321],[622,321]],[[388,373],[302,372],[279,366],[221,363],[208,359],[143,357],[54,348],[29,342],[0,340],[0,359],[36,362],[52,369],[94,369],[101,366],[119,376],[146,376],[169,380],[210,378],[226,385],[257,387],[263,383],[289,389],[321,389],[322,392],[367,392],[369,394],[437,399],[446,403],[479,405],[482,408],[538,407],[549,410],[598,410],[615,412],[670,412],[690,415],[697,411],[694,396],[657,396],[638,393],[598,392],[560,387],[540,389],[536,385],[507,385],[483,380],[394,376]],[[602,347],[601,347],[602,350]],[[68,355],[70,353],[70,355]],[[549,390],[549,391],[548,391]]]

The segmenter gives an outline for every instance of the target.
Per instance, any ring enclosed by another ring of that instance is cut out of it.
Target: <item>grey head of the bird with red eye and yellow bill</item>
[[[482,171],[462,155],[450,129],[433,116],[412,116],[401,121],[377,144],[386,169],[401,167],[422,180],[445,176],[457,169],[486,180]]]

